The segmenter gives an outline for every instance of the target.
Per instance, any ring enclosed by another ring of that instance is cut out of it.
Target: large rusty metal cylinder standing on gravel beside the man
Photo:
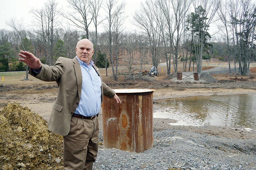
[[[143,152],[153,147],[153,89],[114,89],[121,100],[104,96],[104,148]]]

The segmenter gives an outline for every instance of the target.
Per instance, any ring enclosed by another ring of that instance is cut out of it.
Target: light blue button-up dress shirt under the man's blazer
[[[92,67],[93,61],[89,66],[77,58],[82,71],[82,91],[80,102],[74,113],[83,116],[94,116],[100,112],[101,105],[101,79]]]

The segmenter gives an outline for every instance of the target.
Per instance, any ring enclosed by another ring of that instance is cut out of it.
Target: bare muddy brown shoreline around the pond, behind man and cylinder
[[[115,89],[117,85],[108,84],[111,88]],[[155,89],[153,93],[153,100],[191,96],[210,96],[210,95],[236,95],[236,94],[256,94],[255,82],[225,82],[225,83],[145,83],[141,82],[135,88],[150,88]],[[158,88],[154,88],[158,87]],[[168,86],[168,87],[164,87]],[[122,88],[134,88],[134,85],[127,83],[121,86]],[[161,88],[159,88],[161,87]],[[9,102],[18,102],[23,107],[27,106],[31,111],[38,113],[45,120],[49,120],[52,110],[52,105],[58,93],[58,88],[55,84],[46,85],[33,85],[30,87],[19,86],[2,86],[0,92],[0,110],[4,108]],[[100,115],[102,112],[100,112]],[[227,138],[239,139],[254,139],[256,131],[246,131],[244,129],[237,129],[235,127],[194,127],[194,126],[172,126],[171,123],[175,120],[170,119],[157,119],[153,120],[154,131],[162,131],[165,129],[177,129],[189,132],[196,132],[206,135],[215,135]],[[102,119],[99,117],[100,129],[102,129]]]

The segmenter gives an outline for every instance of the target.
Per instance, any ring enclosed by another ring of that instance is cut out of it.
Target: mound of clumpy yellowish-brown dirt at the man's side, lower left
[[[62,136],[28,107],[9,103],[0,112],[0,169],[62,169]]]

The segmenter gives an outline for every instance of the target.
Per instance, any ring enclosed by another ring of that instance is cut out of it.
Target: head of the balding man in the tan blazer
[[[80,40],[76,47],[76,56],[83,62],[90,64],[94,53],[92,43],[88,39]]]

